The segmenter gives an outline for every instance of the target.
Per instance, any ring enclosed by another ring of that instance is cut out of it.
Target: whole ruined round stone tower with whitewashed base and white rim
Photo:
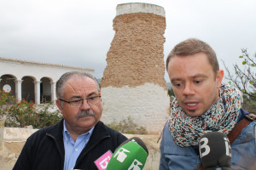
[[[164,62],[164,8],[125,3],[116,8],[115,35],[102,78],[102,121],[132,122],[160,133],[170,111]]]

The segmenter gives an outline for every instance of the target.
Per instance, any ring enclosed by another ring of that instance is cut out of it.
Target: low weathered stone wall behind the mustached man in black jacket
[[[11,170],[15,166],[26,139],[38,129],[5,127],[3,133],[3,150],[0,150],[0,170]],[[143,170],[155,170],[159,167],[160,143],[158,135],[125,134],[130,139],[134,136],[143,139],[148,147],[148,159]]]

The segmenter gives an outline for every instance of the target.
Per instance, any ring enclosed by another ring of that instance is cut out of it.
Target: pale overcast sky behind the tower
[[[220,67],[221,59],[240,63],[241,48],[256,52],[255,0],[0,0],[0,57],[91,68],[102,78],[119,3],[165,8],[165,60],[189,37],[208,42]]]

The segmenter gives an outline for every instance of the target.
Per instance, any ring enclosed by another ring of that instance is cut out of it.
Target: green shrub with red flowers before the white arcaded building
[[[61,120],[60,111],[53,111],[53,103],[47,105],[35,105],[33,101],[22,99],[16,101],[11,92],[0,89],[0,117],[6,119],[5,127],[34,128],[48,127]]]

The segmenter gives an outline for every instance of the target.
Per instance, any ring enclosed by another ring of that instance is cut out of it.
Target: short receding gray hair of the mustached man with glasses
[[[64,88],[65,84],[68,79],[73,78],[73,77],[89,77],[90,79],[94,80],[96,82],[96,86],[98,88],[98,91],[100,92],[100,85],[98,81],[96,80],[96,77],[93,77],[91,74],[86,73],[86,72],[79,72],[79,71],[71,71],[71,72],[66,72],[64,73],[61,78],[56,82],[56,97],[57,99],[61,99],[64,95]]]

